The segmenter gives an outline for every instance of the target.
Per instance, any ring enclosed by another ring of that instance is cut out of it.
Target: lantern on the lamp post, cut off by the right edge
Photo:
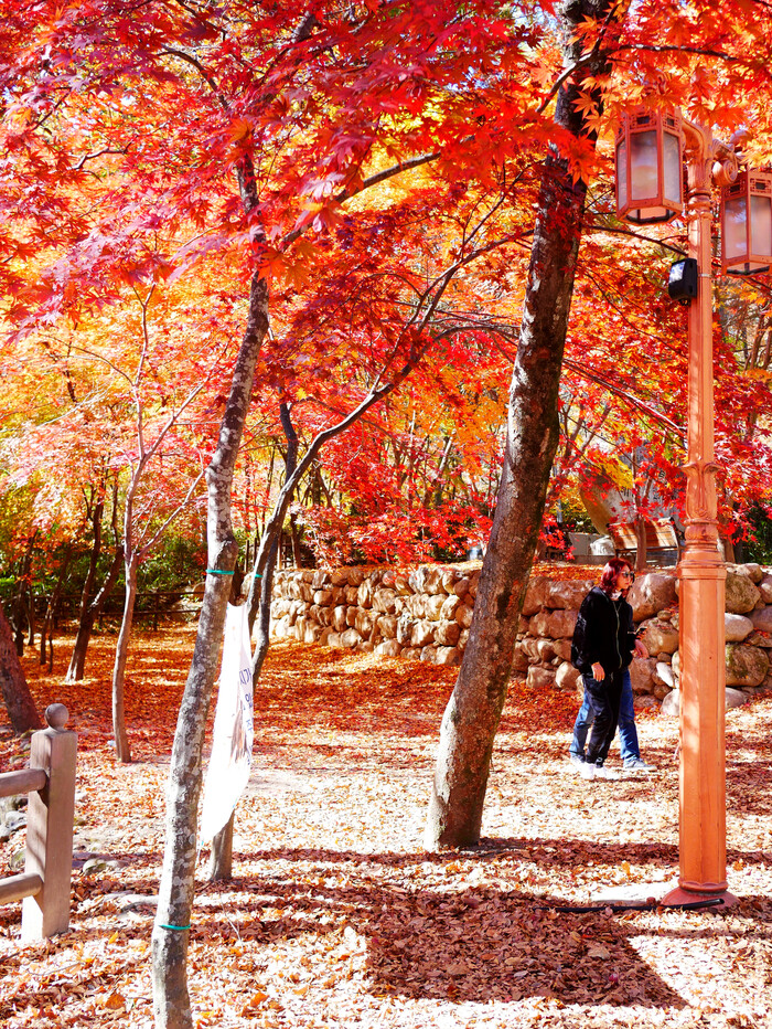
[[[721,265],[729,275],[772,265],[772,172],[744,169],[721,191]]]

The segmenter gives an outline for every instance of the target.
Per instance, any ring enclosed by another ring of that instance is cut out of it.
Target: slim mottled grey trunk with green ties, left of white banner
[[[230,521],[230,489],[251,395],[255,364],[268,330],[268,289],[255,273],[249,314],[234,368],[217,447],[206,470],[208,569],[232,572],[238,545]],[[196,819],[202,785],[204,728],[217,677],[230,592],[228,574],[207,574],[193,660],[174,734],[167,787],[167,841],[152,933],[153,1009],[158,1029],[191,1029],[187,940],[193,905]]]

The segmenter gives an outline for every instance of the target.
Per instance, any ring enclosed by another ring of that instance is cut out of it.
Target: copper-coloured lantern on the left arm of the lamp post
[[[646,225],[669,222],[684,206],[682,118],[640,108],[616,132],[616,213]]]

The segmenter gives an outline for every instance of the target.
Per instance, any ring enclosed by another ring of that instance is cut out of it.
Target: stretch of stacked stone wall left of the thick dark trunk
[[[469,638],[479,571],[421,565],[283,571],[271,635],[432,665],[458,665]]]

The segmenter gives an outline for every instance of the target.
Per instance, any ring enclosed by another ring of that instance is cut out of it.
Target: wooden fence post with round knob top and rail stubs
[[[0,797],[29,793],[24,872],[0,879],[0,904],[21,900],[22,943],[69,925],[77,735],[64,704],[45,709],[49,729],[32,734],[30,767],[0,774]]]

